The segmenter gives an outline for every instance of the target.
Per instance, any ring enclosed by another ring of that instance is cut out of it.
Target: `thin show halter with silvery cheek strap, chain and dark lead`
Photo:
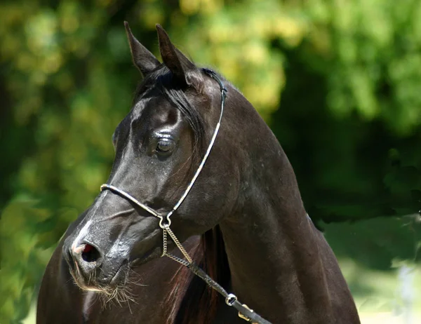
[[[170,257],[171,259],[175,260],[176,262],[187,266],[196,276],[199,276],[203,281],[205,281],[210,288],[215,289],[218,291],[223,297],[225,297],[225,303],[228,306],[233,306],[237,311],[239,311],[239,317],[243,318],[243,320],[247,320],[250,323],[258,323],[258,324],[271,324],[264,318],[260,317],[258,313],[255,313],[253,309],[249,309],[246,304],[241,304],[236,295],[229,294],[224,288],[222,288],[221,285],[219,285],[216,281],[214,281],[208,274],[206,274],[205,271],[203,271],[197,264],[195,264],[192,260],[192,257],[189,256],[185,248],[183,248],[180,241],[178,241],[177,236],[173,233],[171,230],[171,215],[177,210],[182,202],[187,197],[187,194],[189,194],[189,191],[192,189],[194,182],[196,182],[197,177],[199,177],[199,174],[201,173],[201,170],[203,166],[206,163],[206,160],[208,159],[208,156],[210,154],[210,150],[213,147],[213,144],[215,143],[216,136],[218,135],[220,126],[221,126],[221,120],[222,120],[222,114],[224,113],[224,104],[225,104],[225,98],[227,97],[227,89],[224,87],[224,83],[222,83],[221,79],[219,78],[218,74],[213,72],[210,69],[203,69],[203,72],[208,74],[211,78],[213,78],[215,81],[218,82],[221,90],[221,112],[218,119],[218,123],[216,124],[215,131],[213,132],[212,139],[210,140],[208,149],[206,150],[205,155],[203,156],[203,159],[199,165],[199,168],[197,168],[196,173],[194,173],[194,176],[192,178],[192,181],[190,181],[189,185],[185,189],[184,194],[182,194],[180,200],[174,205],[173,209],[168,212],[166,215],[161,215],[159,212],[156,212],[156,210],[150,208],[149,206],[145,205],[144,203],[141,203],[136,198],[131,196],[130,194],[126,193],[126,191],[123,191],[117,187],[112,186],[111,184],[102,184],[101,191],[103,190],[109,190],[112,191],[114,194],[119,194],[120,196],[123,196],[123,198],[126,198],[128,201],[131,201],[132,203],[135,203],[135,205],[138,205],[140,208],[146,210],[149,212],[149,214],[154,215],[159,219],[159,227],[162,229],[162,241],[163,241],[163,252],[161,257]],[[185,259],[181,259],[180,257],[177,257],[175,255],[171,255],[167,251],[167,234],[171,237],[175,245],[177,245],[178,249],[182,252],[182,255],[184,255]]]

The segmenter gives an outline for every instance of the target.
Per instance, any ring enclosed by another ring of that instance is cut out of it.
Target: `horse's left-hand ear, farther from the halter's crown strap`
[[[133,36],[128,22],[124,22],[124,27],[126,27],[126,34],[128,38],[128,43],[130,45],[130,50],[133,58],[133,63],[138,67],[139,71],[146,76],[152,72],[156,67],[158,67],[159,60],[143,46],[140,41],[138,41],[135,36]]]

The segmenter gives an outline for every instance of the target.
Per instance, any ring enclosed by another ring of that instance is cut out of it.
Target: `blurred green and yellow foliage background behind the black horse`
[[[363,323],[420,323],[419,0],[1,1],[0,323],[34,323],[56,243],[107,179],[140,80],[123,20],[158,56],[160,23],[258,109]]]

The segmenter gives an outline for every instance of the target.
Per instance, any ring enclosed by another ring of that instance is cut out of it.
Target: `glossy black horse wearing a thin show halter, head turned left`
[[[156,29],[162,64],[126,25],[144,79],[113,135],[107,184],[47,266],[37,322],[244,323],[188,267],[160,257],[163,241],[178,250],[175,234],[210,277],[272,323],[360,323],[276,137],[234,86]]]

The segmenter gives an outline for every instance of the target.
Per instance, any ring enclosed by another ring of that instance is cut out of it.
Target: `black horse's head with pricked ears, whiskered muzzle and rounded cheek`
[[[126,23],[133,62],[143,81],[112,137],[115,158],[107,184],[168,215],[192,182],[215,134],[222,97],[212,75],[175,48],[161,26],[156,29],[163,63],[135,39]],[[234,88],[232,92],[238,94]],[[236,202],[239,166],[230,161],[241,136],[227,126],[229,116],[234,120],[228,110],[209,161],[171,215],[171,229],[180,241],[215,227]],[[79,287],[100,292],[124,285],[132,266],[162,253],[159,218],[113,190],[100,192],[69,229],[63,245]]]

